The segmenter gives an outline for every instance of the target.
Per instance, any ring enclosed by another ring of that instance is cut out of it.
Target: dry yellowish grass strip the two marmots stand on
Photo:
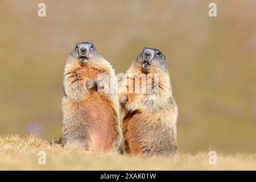
[[[46,152],[46,165],[38,164],[38,152]],[[256,154],[223,155],[217,153],[217,164],[209,165],[208,152],[180,154],[173,158],[135,158],[119,154],[89,153],[77,148],[50,146],[35,136],[0,137],[1,170],[256,170]]]

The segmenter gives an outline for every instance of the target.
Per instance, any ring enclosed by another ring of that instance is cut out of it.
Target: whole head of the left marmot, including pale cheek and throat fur
[[[90,42],[77,43],[75,49],[68,55],[67,63],[79,64],[79,65],[95,65],[100,64],[102,59],[100,53]]]

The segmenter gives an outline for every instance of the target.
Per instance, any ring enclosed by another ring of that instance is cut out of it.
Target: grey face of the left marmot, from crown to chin
[[[86,63],[100,57],[100,53],[90,42],[77,43],[75,49],[69,54],[69,58],[77,59],[80,63]]]

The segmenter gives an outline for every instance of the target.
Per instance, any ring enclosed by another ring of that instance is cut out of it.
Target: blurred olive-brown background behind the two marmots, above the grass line
[[[1,1],[0,135],[60,136],[64,63],[89,41],[116,73],[143,47],[166,55],[181,152],[256,152],[255,12],[254,0]]]

